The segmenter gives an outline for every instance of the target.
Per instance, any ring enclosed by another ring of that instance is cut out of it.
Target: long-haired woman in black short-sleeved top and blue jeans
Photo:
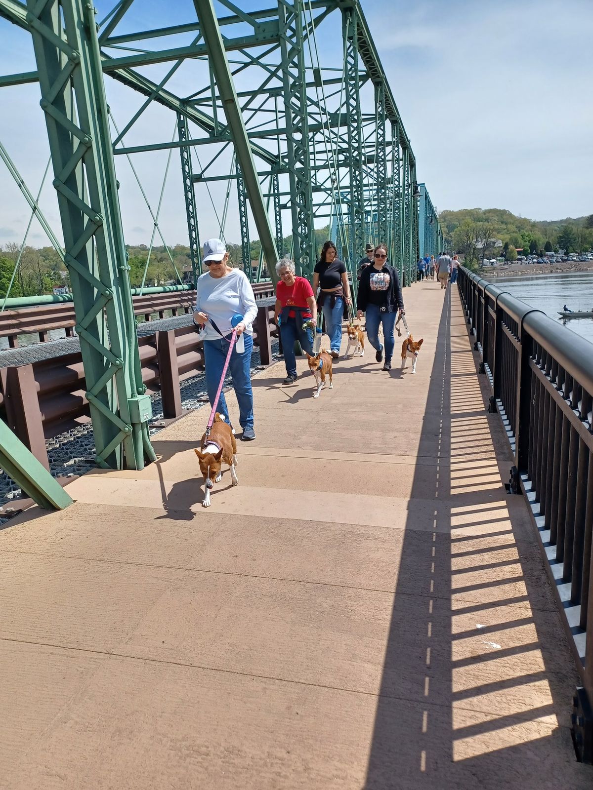
[[[342,318],[344,316],[344,303],[352,304],[350,299],[350,285],[346,274],[344,261],[338,258],[333,242],[326,242],[321,250],[319,262],[313,269],[313,293],[321,286],[317,306],[323,309],[326,332],[330,337],[330,351],[334,359],[340,355],[342,343]]]

